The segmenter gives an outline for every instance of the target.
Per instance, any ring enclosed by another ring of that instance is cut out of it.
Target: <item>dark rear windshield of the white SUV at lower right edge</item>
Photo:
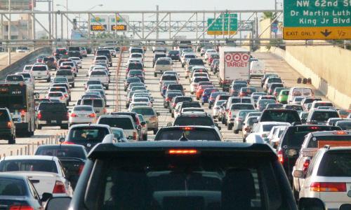
[[[350,151],[327,152],[322,158],[317,176],[351,176]]]

